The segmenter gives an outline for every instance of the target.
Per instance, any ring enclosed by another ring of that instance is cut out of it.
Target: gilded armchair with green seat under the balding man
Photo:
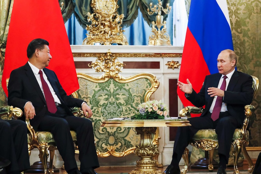
[[[253,77],[253,98],[256,95],[258,86],[259,86],[259,80],[257,77]],[[249,144],[249,131],[247,130],[248,122],[249,122],[249,117],[254,114],[255,107],[252,105],[246,105],[245,106],[245,120],[243,123],[242,128],[236,129],[233,135],[233,142],[232,145],[234,147],[233,151],[233,156],[234,156],[234,174],[239,174],[239,170],[237,168],[237,162],[239,159],[239,155],[241,153],[241,150],[243,152],[243,155],[245,156],[249,168],[248,172],[253,172],[253,162],[250,159],[247,151],[246,151],[246,145]],[[180,110],[180,117],[188,117],[190,118],[191,115],[190,113],[194,114],[200,114],[203,112],[203,108],[198,108],[198,107],[193,107],[193,106],[188,106]],[[197,148],[209,151],[209,166],[208,170],[210,172],[213,171],[213,153],[214,149],[218,148],[218,139],[217,139],[217,134],[214,129],[202,129],[199,130],[192,138],[192,141],[190,142],[192,146],[196,146]],[[183,153],[183,159],[185,161],[185,166],[181,170],[181,173],[185,174],[187,172],[188,168],[188,149]]]

